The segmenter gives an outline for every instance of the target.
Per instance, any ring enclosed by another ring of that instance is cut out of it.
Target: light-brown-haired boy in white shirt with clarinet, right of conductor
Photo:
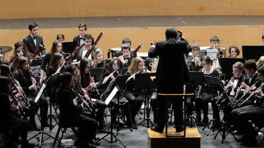
[[[244,74],[242,74],[243,63],[236,62],[235,64],[233,64],[232,67],[233,67],[234,76],[230,79],[230,81],[224,87],[231,101],[233,101],[238,87],[241,85],[241,83],[246,78]],[[224,108],[223,110],[224,110],[225,121],[230,122],[231,111],[228,111],[227,109],[228,107],[226,106],[229,101],[225,99],[226,97],[223,96],[223,94],[220,95],[219,97],[215,97],[211,99],[211,106],[213,109],[213,118],[216,119],[216,122],[214,123],[214,128],[218,128],[220,126],[220,113],[219,113],[218,104],[221,104],[221,106]],[[221,101],[223,102],[221,103]]]

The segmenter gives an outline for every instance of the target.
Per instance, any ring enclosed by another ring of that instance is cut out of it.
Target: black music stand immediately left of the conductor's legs
[[[157,83],[155,81],[156,79],[156,73],[141,73],[135,75],[135,90],[144,90],[144,97],[145,97],[145,103],[146,103],[146,118],[142,120],[140,123],[135,125],[133,128],[142,125],[143,122],[147,121],[147,126],[144,126],[146,128],[149,128],[149,122],[153,125],[156,125],[150,118],[150,111],[149,111],[149,97],[148,94],[150,93],[151,89],[157,89]]]

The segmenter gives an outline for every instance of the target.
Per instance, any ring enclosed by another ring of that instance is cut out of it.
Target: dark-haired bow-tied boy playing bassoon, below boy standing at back
[[[84,35],[84,42],[86,42],[87,44],[84,45],[84,47],[79,50],[73,57],[73,59],[76,58],[77,61],[80,61],[82,58],[84,58],[85,54],[88,52],[88,50],[91,49],[92,45],[94,44],[94,38],[92,37],[91,34],[85,34]],[[83,43],[83,42],[82,42]],[[77,46],[75,48],[75,50],[79,48],[79,46]],[[93,51],[91,52],[91,54],[89,55],[89,57],[87,59],[91,60],[94,58],[94,54],[95,54],[95,50],[97,49],[97,47],[95,47],[93,49]]]

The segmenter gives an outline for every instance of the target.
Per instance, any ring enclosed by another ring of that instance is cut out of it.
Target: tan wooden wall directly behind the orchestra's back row
[[[161,41],[165,39],[165,30],[167,27],[152,27],[152,28],[92,28],[88,29],[88,33],[95,38],[103,30],[105,33],[98,46],[103,49],[104,56],[107,56],[109,48],[120,47],[122,40],[128,37],[132,40],[132,48],[136,48],[140,42],[144,46],[139,52],[148,52],[150,43],[149,39]],[[262,26],[204,26],[204,27],[178,27],[185,38],[190,38],[189,43],[198,42],[200,46],[210,46],[211,36],[218,36],[223,40],[222,47],[229,48],[230,45],[238,45],[241,50],[242,45],[263,45],[262,34],[264,33],[264,25]],[[38,32],[44,39],[46,52],[50,51],[52,42],[56,39],[59,33],[64,34],[65,41],[71,42],[73,36],[79,34],[76,29],[39,29]],[[11,46],[14,48],[14,43],[22,41],[22,39],[29,35],[29,30],[0,30],[0,46]],[[12,54],[10,51],[8,54]],[[229,53],[227,52],[229,55]],[[239,55],[241,57],[242,54]]]

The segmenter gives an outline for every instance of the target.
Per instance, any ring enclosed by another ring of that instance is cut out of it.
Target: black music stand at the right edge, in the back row
[[[243,58],[259,60],[264,55],[264,46],[242,46]]]

